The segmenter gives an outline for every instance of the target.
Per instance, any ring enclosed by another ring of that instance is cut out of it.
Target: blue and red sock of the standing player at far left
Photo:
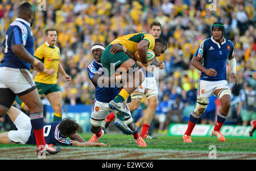
[[[40,145],[46,145],[46,141],[44,140],[44,116],[43,113],[34,113],[30,115],[30,122],[32,126],[32,130],[36,139],[36,146],[40,149],[44,149],[44,147],[40,147]]]

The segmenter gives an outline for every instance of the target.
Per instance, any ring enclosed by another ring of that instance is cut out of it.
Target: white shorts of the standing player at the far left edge
[[[9,88],[19,94],[33,86],[35,82],[27,69],[0,67],[0,88]]]

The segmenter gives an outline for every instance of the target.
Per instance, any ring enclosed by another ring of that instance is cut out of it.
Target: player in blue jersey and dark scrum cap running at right
[[[221,108],[218,111],[216,124],[212,136],[217,136],[219,141],[225,141],[220,129],[226,120],[231,103],[231,91],[226,79],[226,64],[229,62],[231,77],[238,84],[236,76],[236,59],[234,58],[234,45],[224,37],[224,24],[215,22],[212,24],[212,37],[205,39],[200,44],[192,58],[192,65],[201,71],[197,88],[197,103],[188,121],[188,128],[183,135],[186,143],[192,143],[191,133],[197,120],[207,108],[210,95],[214,94],[220,99]],[[204,64],[201,60],[204,59]]]

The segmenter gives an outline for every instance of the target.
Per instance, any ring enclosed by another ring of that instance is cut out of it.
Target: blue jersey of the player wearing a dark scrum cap
[[[215,77],[207,76],[207,74],[202,72],[200,80],[226,80],[226,63],[229,57],[234,56],[234,45],[230,40],[226,39],[220,45],[213,40],[213,37],[210,37],[201,42],[194,56],[204,59],[205,68],[212,68],[217,72]]]

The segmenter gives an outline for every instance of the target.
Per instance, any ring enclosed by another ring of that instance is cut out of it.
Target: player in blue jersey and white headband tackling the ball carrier
[[[93,55],[93,62],[87,66],[87,72],[90,80],[95,86],[95,100],[93,103],[92,115],[90,118],[90,131],[94,134],[89,140],[90,143],[96,143],[103,135],[102,123],[106,116],[109,115],[109,102],[112,101],[119,93],[115,81],[121,81],[121,75],[114,78],[109,77],[108,74],[104,74],[105,70],[101,65],[101,55],[105,48],[102,44],[94,44],[91,52]],[[125,79],[125,78],[124,78]],[[128,105],[123,106],[126,109],[129,116],[125,116],[125,122],[115,119],[115,126],[119,128],[124,134],[133,134],[134,140],[139,147],[146,147],[146,143],[142,137],[138,134],[138,127],[131,118],[131,113]],[[115,116],[119,113],[114,111]]]

